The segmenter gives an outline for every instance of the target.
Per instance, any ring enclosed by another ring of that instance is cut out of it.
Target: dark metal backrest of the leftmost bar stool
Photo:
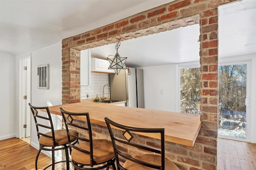
[[[38,140],[41,136],[52,138],[53,147],[56,147],[54,127],[52,124],[52,117],[51,117],[49,108],[47,106],[46,107],[32,106],[30,103],[28,105],[31,109],[32,115],[36,123]],[[46,113],[40,110],[46,110]],[[45,133],[48,131],[51,131],[52,135],[46,135]]]

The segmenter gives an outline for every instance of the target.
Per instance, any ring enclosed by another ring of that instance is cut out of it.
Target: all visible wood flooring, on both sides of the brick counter
[[[17,138],[0,141],[1,170],[34,170],[38,150]],[[51,164],[51,158],[40,153],[38,169]],[[256,170],[256,144],[218,139],[218,170]],[[49,168],[50,169],[50,168]],[[57,166],[56,170],[62,168]]]

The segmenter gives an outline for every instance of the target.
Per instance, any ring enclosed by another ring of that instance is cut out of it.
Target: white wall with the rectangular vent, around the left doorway
[[[28,57],[30,54],[16,56],[16,67],[19,67],[20,59]],[[49,89],[38,89],[37,84],[37,66],[40,64],[49,64]],[[19,70],[16,72],[16,90],[19,90]],[[16,95],[19,102],[19,94]],[[38,49],[31,53],[31,104],[33,106],[54,106],[62,104],[62,44],[57,43],[50,47]],[[16,105],[19,108],[19,104]],[[18,115],[17,115],[18,117]],[[61,129],[62,117],[52,115],[54,128]],[[17,124],[20,119],[16,119]],[[20,125],[21,126],[21,125]],[[18,131],[19,127],[17,128]],[[18,133],[18,132],[17,132]],[[30,144],[39,149],[38,138],[36,135],[36,125],[31,114],[31,136]],[[49,155],[49,154],[48,154]],[[58,156],[58,155],[57,155]]]

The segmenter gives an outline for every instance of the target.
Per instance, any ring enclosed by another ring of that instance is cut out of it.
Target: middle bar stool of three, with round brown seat
[[[72,113],[65,111],[60,107],[62,117],[68,133],[68,140],[71,137],[82,141],[78,145],[70,143],[71,162],[75,170],[100,170],[112,166],[113,170],[116,170],[115,166],[115,154],[112,147],[112,143],[106,139],[92,139],[92,127],[90,124],[89,113]],[[86,126],[81,125],[74,119],[84,119]],[[70,133],[70,128],[78,129],[78,132],[82,132],[79,135]]]

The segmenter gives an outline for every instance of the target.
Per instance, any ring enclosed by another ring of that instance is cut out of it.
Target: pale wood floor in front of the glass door
[[[256,170],[256,144],[218,138],[218,170]]]

